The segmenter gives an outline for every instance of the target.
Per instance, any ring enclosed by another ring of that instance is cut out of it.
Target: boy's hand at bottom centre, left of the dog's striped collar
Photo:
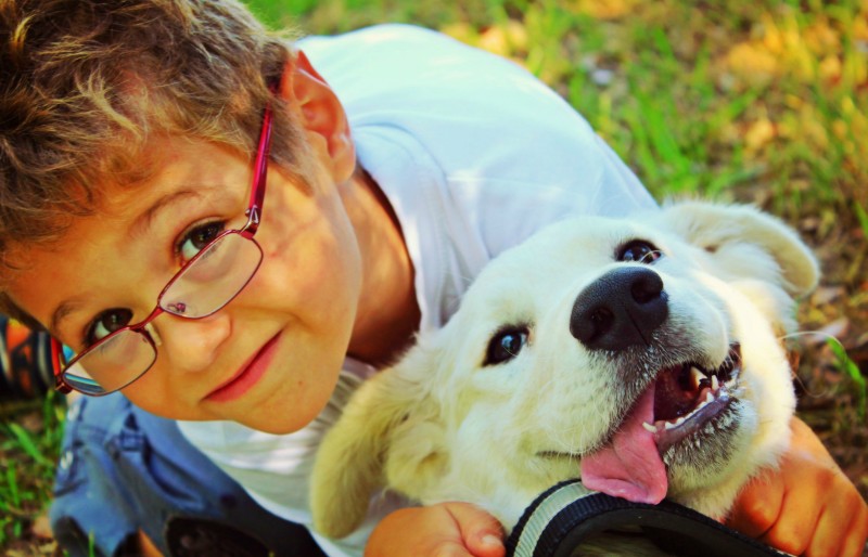
[[[469,503],[403,508],[371,533],[365,557],[503,557],[503,530]]]

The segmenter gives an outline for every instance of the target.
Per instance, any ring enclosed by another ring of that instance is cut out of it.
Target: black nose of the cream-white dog
[[[592,350],[647,346],[668,313],[660,275],[646,267],[622,267],[578,295],[570,315],[570,333]]]

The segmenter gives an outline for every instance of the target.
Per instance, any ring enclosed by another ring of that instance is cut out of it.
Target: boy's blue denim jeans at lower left
[[[164,555],[322,555],[307,530],[263,509],[175,422],[119,393],[71,404],[50,516],[74,557],[120,555],[139,530]]]

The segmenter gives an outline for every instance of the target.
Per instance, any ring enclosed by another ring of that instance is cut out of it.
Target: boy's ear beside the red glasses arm
[[[315,152],[319,151],[317,143],[323,146],[323,164],[334,181],[347,180],[356,168],[356,147],[346,112],[335,92],[301,50],[286,62],[280,94],[295,111],[302,127],[314,134]]]

